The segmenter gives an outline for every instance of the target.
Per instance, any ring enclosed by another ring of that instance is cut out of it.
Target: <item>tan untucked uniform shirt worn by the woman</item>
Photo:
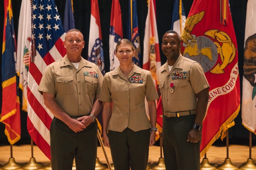
[[[132,83],[134,76],[143,78],[143,82]],[[99,100],[111,102],[113,110],[108,125],[109,130],[122,132],[130,128],[137,132],[150,128],[145,110],[147,101],[158,99],[157,91],[150,71],[143,70],[134,64],[128,80],[120,66],[105,74]]]

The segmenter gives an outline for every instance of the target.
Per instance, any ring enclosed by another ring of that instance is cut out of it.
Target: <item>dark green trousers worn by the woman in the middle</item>
[[[110,151],[115,170],[146,170],[150,140],[150,129],[134,132],[126,128],[123,132],[108,131]]]

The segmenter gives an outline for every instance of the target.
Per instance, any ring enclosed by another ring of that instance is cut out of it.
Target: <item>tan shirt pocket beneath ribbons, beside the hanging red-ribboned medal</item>
[[[188,97],[188,88],[186,79],[174,79],[174,92],[172,93],[173,100],[185,100]]]

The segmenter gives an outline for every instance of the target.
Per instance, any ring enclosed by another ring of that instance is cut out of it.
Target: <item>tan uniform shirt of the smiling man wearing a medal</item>
[[[185,79],[172,78],[172,72],[186,71]],[[158,72],[159,89],[165,112],[179,112],[196,109],[196,94],[209,87],[204,71],[199,63],[179,56],[169,71],[166,62]],[[170,83],[174,83],[173,93],[170,93]]]

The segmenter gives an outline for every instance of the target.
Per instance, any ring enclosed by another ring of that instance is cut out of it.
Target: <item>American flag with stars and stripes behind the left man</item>
[[[34,62],[29,62],[27,127],[33,141],[51,159],[50,124],[53,114],[44,105],[43,96],[37,88],[46,67],[66,55],[63,46],[65,32],[53,0],[33,0],[31,22],[36,56]]]

